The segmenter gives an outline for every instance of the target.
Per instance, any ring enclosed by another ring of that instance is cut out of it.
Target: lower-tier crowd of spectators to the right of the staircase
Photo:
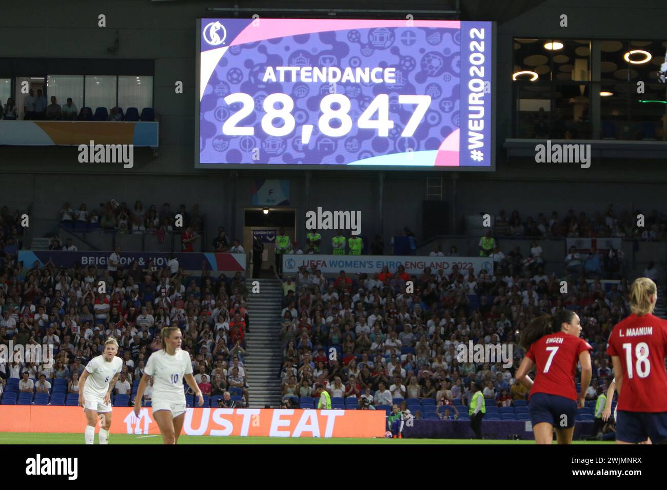
[[[448,273],[427,268],[420,275],[385,268],[354,280],[341,271],[334,281],[301,267],[283,283],[283,399],[298,403],[322,384],[331,397],[356,397],[364,408],[410,398],[442,407],[469,403],[476,383],[487,404],[511,406],[527,395],[514,378],[524,356],[520,332],[535,317],[561,309],[580,315],[582,337],[594,347],[594,379],[602,385],[613,376],[606,338],[629,314],[628,281],[606,289],[600,279],[589,283],[570,274],[566,280],[564,294],[560,278],[522,261],[494,276],[454,265]],[[413,281],[414,293],[406,293],[406,281]],[[512,366],[461,362],[458,346],[469,341],[511,345]]]

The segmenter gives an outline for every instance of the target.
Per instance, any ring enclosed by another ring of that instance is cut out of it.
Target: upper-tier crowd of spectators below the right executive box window
[[[643,222],[638,218],[644,216]],[[616,213],[610,205],[606,211],[596,211],[591,217],[584,211],[578,215],[570,209],[565,217],[553,211],[548,217],[539,213],[536,218],[512,211],[508,217],[503,210],[494,221],[494,235],[499,237],[567,237],[567,238],[628,238],[652,241],[667,239],[667,215],[653,210],[650,215],[642,211]]]

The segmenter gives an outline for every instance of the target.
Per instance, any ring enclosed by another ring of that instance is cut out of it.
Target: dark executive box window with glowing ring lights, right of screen
[[[666,47],[664,41],[514,39],[514,137],[664,141],[667,87],[659,70]]]

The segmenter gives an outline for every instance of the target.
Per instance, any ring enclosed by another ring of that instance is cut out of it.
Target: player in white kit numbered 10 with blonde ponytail
[[[137,396],[141,400],[148,384],[149,377],[153,378],[152,406],[153,417],[160,428],[162,441],[165,444],[175,444],[181,435],[183,421],[185,421],[185,391],[183,379],[199,398],[199,407],[204,404],[201,389],[197,386],[192,375],[190,355],[181,350],[181,329],[179,327],[164,327],[161,331],[162,350],[154,352],[148,358],[143,371]],[[135,403],[134,413],[139,417],[141,403]]]

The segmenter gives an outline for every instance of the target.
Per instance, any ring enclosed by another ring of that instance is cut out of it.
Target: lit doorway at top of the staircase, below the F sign
[[[249,257],[246,277],[252,276],[252,242],[253,236],[258,235],[264,244],[264,253],[261,259],[259,277],[275,277],[275,237],[279,229],[284,228],[290,241],[295,240],[297,230],[296,210],[294,208],[275,207],[246,207],[243,211],[243,249]]]

